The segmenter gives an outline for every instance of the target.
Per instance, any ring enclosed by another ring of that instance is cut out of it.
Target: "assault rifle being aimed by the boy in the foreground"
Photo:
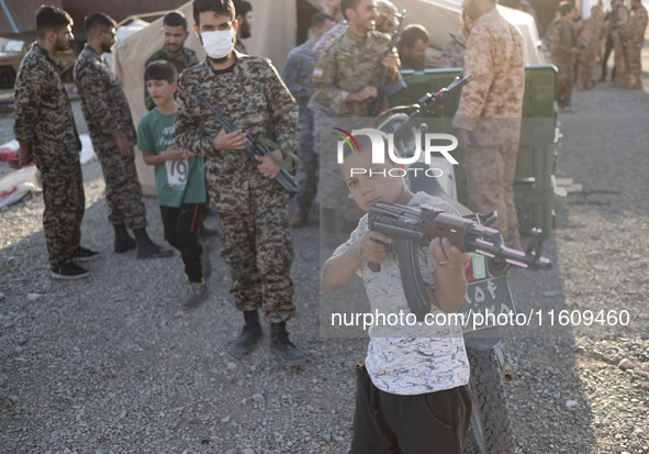
[[[523,252],[504,246],[499,231],[481,225],[479,218],[473,221],[426,204],[416,209],[382,202],[370,208],[368,226],[393,239],[405,299],[419,321],[430,311],[430,297],[422,279],[416,247],[427,247],[435,237],[447,237],[462,252],[475,252],[501,264],[504,262],[531,270],[551,267],[550,259],[540,255],[542,232],[539,229],[531,230],[529,246]],[[370,263],[369,266],[373,272],[381,269],[378,264]]]

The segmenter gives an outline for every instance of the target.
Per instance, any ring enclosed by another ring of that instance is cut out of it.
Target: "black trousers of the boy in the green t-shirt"
[[[184,273],[190,283],[203,280],[201,254],[203,246],[199,243],[199,221],[203,203],[181,204],[178,208],[160,206],[165,240],[180,251]]]

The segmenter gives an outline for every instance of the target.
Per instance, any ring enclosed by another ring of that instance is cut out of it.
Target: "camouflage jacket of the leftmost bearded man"
[[[36,43],[18,69],[14,103],[15,140],[30,144],[37,163],[79,160],[81,142],[58,62]]]

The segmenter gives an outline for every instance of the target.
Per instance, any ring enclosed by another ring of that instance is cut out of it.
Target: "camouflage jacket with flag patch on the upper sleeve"
[[[313,100],[332,117],[369,117],[373,99],[345,102],[349,93],[377,86],[381,60],[390,37],[369,32],[366,37],[348,30],[335,38],[313,69]]]

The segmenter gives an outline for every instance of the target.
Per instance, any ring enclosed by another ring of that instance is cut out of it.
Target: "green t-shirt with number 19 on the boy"
[[[155,155],[165,153],[174,145],[174,120],[176,113],[161,114],[155,108],[145,114],[137,125],[137,148]],[[158,203],[164,207],[180,207],[182,203],[204,203],[205,177],[203,157],[186,160],[167,160],[156,165]]]

